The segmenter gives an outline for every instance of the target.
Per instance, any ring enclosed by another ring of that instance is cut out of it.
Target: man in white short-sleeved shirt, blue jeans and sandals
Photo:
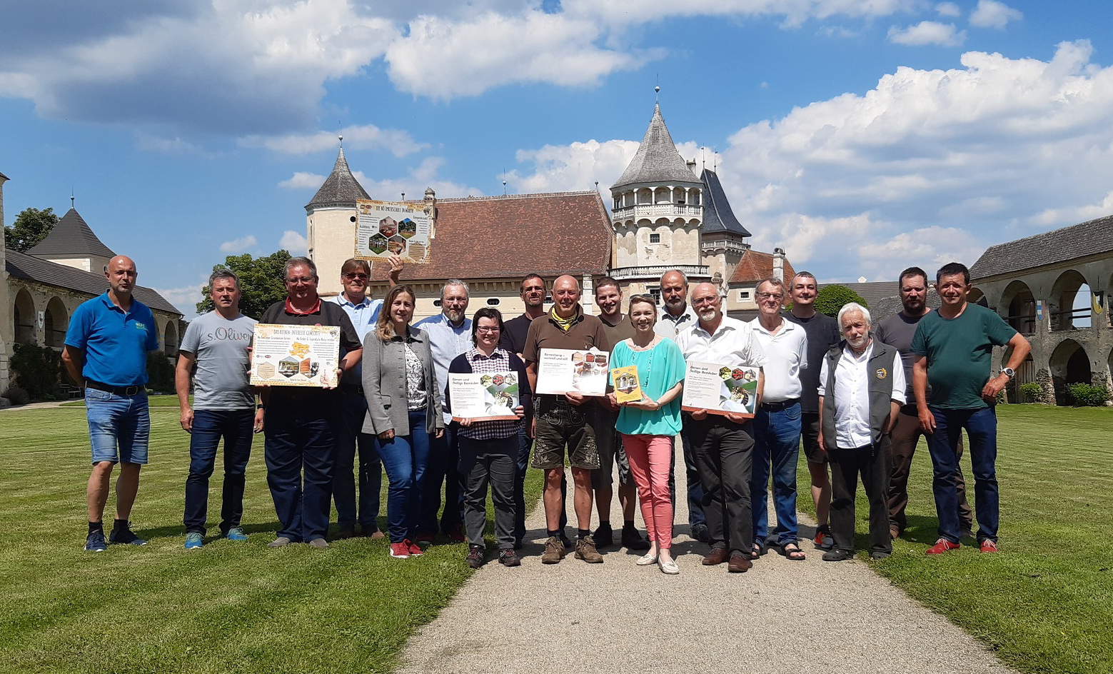
[[[767,278],[758,284],[758,317],[749,324],[765,351],[765,393],[754,416],[754,552],[765,552],[767,539],[787,559],[804,559],[796,522],[796,464],[800,456],[800,370],[808,366],[808,337],[804,328],[780,314],[788,295],[785,281]],[[766,489],[772,473],[772,503],[777,528],[769,532]]]

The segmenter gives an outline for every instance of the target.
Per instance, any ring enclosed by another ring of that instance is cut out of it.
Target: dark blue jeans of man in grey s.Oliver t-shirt
[[[216,450],[224,438],[224,493],[220,499],[220,534],[239,526],[244,516],[244,474],[252,456],[254,409],[196,409],[189,434],[189,476],[186,477],[187,533],[205,535],[208,480],[216,466]]]

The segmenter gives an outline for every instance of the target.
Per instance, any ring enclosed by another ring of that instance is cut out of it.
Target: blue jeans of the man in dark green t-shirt
[[[977,516],[977,539],[997,541],[1001,505],[997,492],[997,412],[984,409],[930,408],[935,416],[935,433],[927,436],[932,454],[932,492],[935,514],[939,518],[939,537],[958,543],[962,525],[958,519],[958,456],[962,429],[969,438],[971,466],[974,472],[974,514]]]

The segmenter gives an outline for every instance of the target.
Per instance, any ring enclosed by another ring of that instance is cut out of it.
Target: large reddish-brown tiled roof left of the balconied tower
[[[599,192],[437,199],[430,261],[406,265],[401,280],[521,278],[605,274],[611,225]],[[388,267],[376,262],[374,280]]]

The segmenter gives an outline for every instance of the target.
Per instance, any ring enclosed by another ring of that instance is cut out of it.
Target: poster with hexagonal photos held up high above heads
[[[406,264],[429,261],[433,227],[424,204],[356,199],[355,257],[385,260],[397,255]]]

